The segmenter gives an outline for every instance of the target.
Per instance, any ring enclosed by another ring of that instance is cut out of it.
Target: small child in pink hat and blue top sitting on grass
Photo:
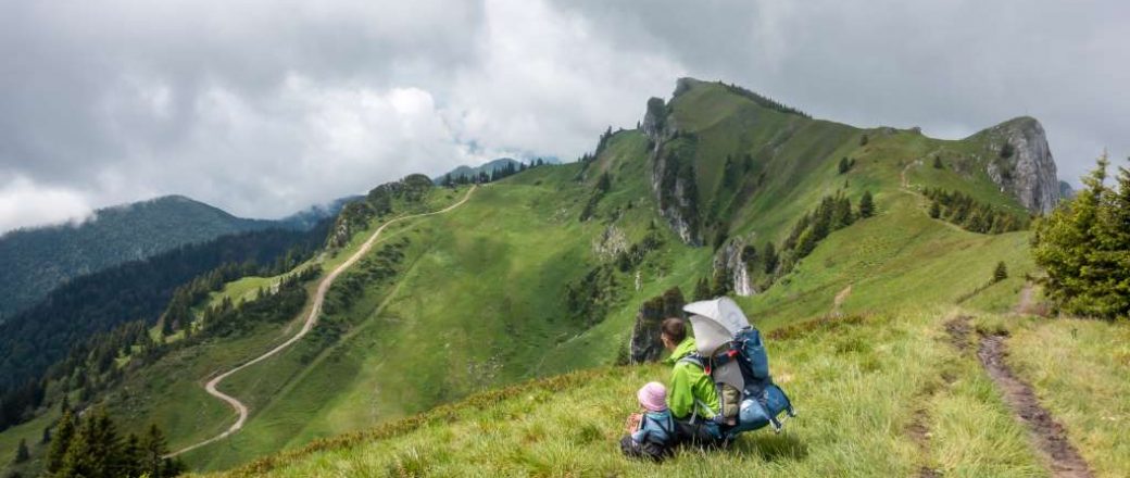
[[[631,435],[620,438],[620,451],[632,458],[662,461],[675,445],[675,417],[667,409],[667,388],[650,382],[636,392],[636,399],[644,414],[633,414],[628,418]]]

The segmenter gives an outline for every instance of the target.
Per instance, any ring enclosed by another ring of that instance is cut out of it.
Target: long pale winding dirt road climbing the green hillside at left
[[[208,391],[208,394],[216,397],[220,400],[224,400],[225,402],[227,402],[227,405],[232,406],[232,408],[235,409],[235,411],[240,415],[240,417],[235,420],[235,423],[232,424],[232,426],[228,427],[228,429],[225,431],[224,433],[220,433],[219,435],[212,436],[211,438],[205,440],[202,442],[185,446],[181,450],[169,453],[168,457],[176,457],[182,453],[188,453],[192,450],[199,449],[207,444],[224,440],[229,435],[232,435],[233,433],[238,432],[241,428],[243,428],[243,425],[247,421],[247,406],[243,405],[243,402],[241,402],[240,399],[219,391],[217,389],[217,386],[219,386],[219,383],[223,382],[224,379],[232,376],[232,374],[235,374],[236,372],[240,372],[246,367],[250,367],[254,364],[266,360],[271,356],[282,351],[287,347],[290,347],[292,345],[297,342],[298,340],[302,340],[302,338],[305,337],[306,333],[310,333],[311,329],[313,329],[314,325],[318,323],[318,315],[321,314],[322,312],[322,302],[325,299],[325,293],[329,292],[330,286],[333,285],[333,280],[337,279],[338,276],[341,275],[341,272],[345,272],[346,269],[349,269],[349,267],[357,263],[357,261],[359,261],[362,257],[368,253],[370,249],[372,249],[373,244],[376,242],[376,238],[381,236],[381,233],[383,233],[386,227],[395,223],[400,223],[408,219],[414,219],[425,216],[434,216],[451,211],[452,209],[463,206],[463,203],[466,203],[469,199],[471,199],[471,193],[475,192],[476,188],[477,186],[472,185],[471,189],[467,191],[467,194],[463,195],[463,199],[461,199],[459,202],[455,202],[454,205],[447,206],[444,209],[432,212],[398,217],[389,220],[388,223],[384,223],[383,225],[381,225],[381,227],[377,227],[376,231],[373,232],[373,235],[368,236],[368,240],[366,240],[365,243],[362,244],[359,249],[357,249],[357,252],[350,255],[349,259],[347,259],[340,266],[334,268],[333,271],[331,271],[329,275],[322,278],[322,281],[318,284],[318,292],[314,293],[314,304],[313,306],[310,307],[310,314],[306,315],[306,321],[302,324],[302,330],[299,330],[298,333],[289,338],[287,341],[279,344],[277,347],[268,350],[266,354],[252,358],[251,360],[245,362],[235,368],[232,368],[227,372],[217,375],[212,380],[208,381],[208,383],[205,385],[205,390]]]

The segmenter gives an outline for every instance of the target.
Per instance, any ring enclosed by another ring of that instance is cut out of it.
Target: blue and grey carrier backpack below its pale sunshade
[[[773,383],[762,334],[753,327],[738,331],[730,342],[730,348],[721,354],[705,358],[692,354],[681,360],[694,363],[711,376],[718,389],[722,410],[732,410],[734,405],[738,406],[737,424],[720,429],[724,438],[733,438],[744,432],[760,429],[768,425],[773,426],[774,432],[781,433],[782,423],[779,419],[781,414],[797,416],[784,390]],[[725,388],[734,386],[738,380],[733,375],[739,371],[740,397],[736,398],[734,393],[727,393]],[[734,399],[738,400],[737,403],[732,402]]]

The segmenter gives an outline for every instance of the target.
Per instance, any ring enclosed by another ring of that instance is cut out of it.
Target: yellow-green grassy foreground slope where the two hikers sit
[[[800,415],[725,452],[621,458],[615,442],[635,389],[668,371],[616,367],[472,396],[231,476],[1044,475],[975,357],[948,344],[947,319],[928,307],[785,329],[771,356]],[[925,443],[909,432],[915,420],[931,431]]]

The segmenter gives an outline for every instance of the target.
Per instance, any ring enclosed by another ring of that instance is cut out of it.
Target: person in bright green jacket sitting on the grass
[[[696,363],[681,360],[694,354],[695,339],[687,337],[687,325],[683,319],[667,319],[660,325],[660,340],[671,356],[663,360],[672,365],[668,407],[679,421],[680,435],[693,442],[713,443],[721,435],[712,418],[718,415],[721,403],[714,381]]]

